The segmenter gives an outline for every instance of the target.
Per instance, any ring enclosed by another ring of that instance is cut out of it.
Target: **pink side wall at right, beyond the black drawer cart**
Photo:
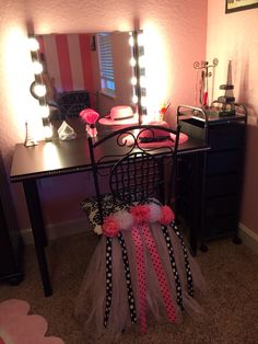
[[[258,9],[225,14],[225,0],[209,0],[207,58],[219,58],[214,99],[232,60],[236,102],[248,110],[245,182],[241,222],[258,233]]]

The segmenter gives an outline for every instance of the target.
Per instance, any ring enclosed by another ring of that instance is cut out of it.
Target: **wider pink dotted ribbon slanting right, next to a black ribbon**
[[[162,266],[162,262],[154,242],[154,239],[151,234],[151,231],[149,229],[149,227],[146,225],[143,225],[141,227],[142,230],[142,234],[144,238],[144,241],[146,243],[148,250],[151,254],[151,260],[152,260],[152,264],[154,266],[156,276],[157,276],[157,280],[160,284],[160,288],[161,288],[161,293],[162,293],[162,297],[166,307],[166,311],[167,311],[167,316],[168,319],[174,322],[176,320],[176,313],[175,313],[175,308],[172,301],[172,297],[171,297],[171,291],[167,285],[167,279],[166,279],[166,275],[164,272],[164,268]]]

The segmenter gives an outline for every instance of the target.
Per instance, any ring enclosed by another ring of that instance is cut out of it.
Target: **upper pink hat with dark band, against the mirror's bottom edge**
[[[104,125],[133,125],[138,124],[138,114],[133,114],[131,106],[114,106],[110,114],[99,118],[98,123]]]

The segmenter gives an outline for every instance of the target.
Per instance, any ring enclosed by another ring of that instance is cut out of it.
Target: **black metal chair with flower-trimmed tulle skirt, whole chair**
[[[96,197],[83,208],[103,236],[75,306],[87,339],[112,343],[131,325],[145,333],[150,317],[173,323],[181,310],[201,311],[194,280],[201,289],[202,276],[163,205],[171,203],[178,142],[179,127],[152,125],[89,137]]]

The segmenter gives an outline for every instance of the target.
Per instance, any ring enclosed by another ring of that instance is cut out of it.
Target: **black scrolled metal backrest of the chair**
[[[102,176],[108,177],[114,206],[142,204],[151,197],[161,203],[169,200],[179,131],[179,126],[171,129],[155,125],[136,125],[107,135],[101,134],[97,138],[89,136],[101,223],[104,214]]]

